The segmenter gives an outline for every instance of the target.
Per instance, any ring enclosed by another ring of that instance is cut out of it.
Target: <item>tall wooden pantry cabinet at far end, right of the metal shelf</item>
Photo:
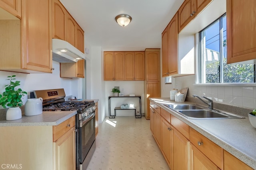
[[[160,49],[145,49],[144,112],[150,119],[149,98],[160,98]]]

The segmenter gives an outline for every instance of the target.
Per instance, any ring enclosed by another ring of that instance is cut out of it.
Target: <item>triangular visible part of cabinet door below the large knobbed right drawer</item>
[[[190,144],[190,170],[220,170],[220,168]]]

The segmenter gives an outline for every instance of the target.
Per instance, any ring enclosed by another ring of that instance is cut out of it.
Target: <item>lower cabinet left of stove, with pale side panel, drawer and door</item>
[[[0,127],[0,136],[2,168],[75,170],[75,116],[57,126]]]

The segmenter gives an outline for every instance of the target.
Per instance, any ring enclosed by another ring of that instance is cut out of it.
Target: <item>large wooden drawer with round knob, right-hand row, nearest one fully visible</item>
[[[223,149],[190,127],[190,142],[220,169],[223,169]]]

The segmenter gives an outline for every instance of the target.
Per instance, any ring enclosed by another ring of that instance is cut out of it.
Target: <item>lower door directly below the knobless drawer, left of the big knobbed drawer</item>
[[[181,133],[173,130],[173,169],[188,170],[189,141]]]

